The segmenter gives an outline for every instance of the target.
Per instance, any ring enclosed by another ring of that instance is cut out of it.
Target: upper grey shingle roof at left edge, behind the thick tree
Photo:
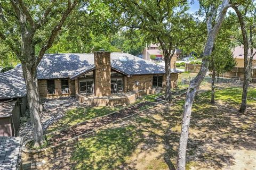
[[[26,83],[21,65],[0,74],[0,99],[26,96]]]

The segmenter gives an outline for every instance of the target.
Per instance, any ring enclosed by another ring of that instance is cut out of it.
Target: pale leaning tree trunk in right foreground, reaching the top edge
[[[189,133],[189,125],[190,125],[190,116],[191,116],[191,108],[193,105],[193,101],[196,95],[196,91],[199,88],[201,82],[203,81],[209,67],[209,56],[212,53],[212,48],[214,44],[214,40],[217,37],[219,29],[221,27],[221,23],[223,22],[227,8],[229,6],[229,0],[223,0],[221,4],[221,8],[219,10],[218,19],[212,28],[212,20],[213,14],[207,20],[207,40],[204,48],[203,61],[201,65],[201,69],[195,79],[190,81],[185,105],[183,109],[183,118],[182,118],[182,126],[181,126],[181,134],[179,141],[179,149],[178,149],[178,160],[177,160],[177,169],[185,170],[186,167],[186,149],[188,142],[188,133]]]

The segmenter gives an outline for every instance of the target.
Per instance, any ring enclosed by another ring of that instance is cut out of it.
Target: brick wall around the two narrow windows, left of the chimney
[[[59,97],[76,95],[75,80],[68,79],[69,94],[62,94],[61,79],[54,79],[54,83],[55,83],[55,94],[50,95],[48,94],[48,91],[47,91],[47,80],[46,79],[38,80],[39,95],[41,98],[59,98]]]

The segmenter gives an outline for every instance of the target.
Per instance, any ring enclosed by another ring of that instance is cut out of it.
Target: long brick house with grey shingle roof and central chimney
[[[110,96],[165,86],[165,68],[124,53],[46,54],[38,65],[41,98]],[[172,87],[178,73],[172,69]]]

